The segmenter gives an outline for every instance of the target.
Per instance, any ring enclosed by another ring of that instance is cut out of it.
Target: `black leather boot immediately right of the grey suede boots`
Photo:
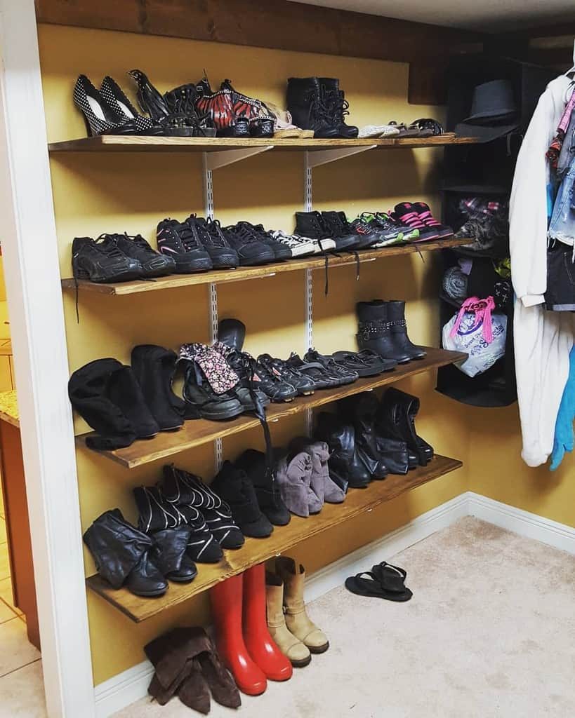
[[[355,429],[349,421],[334,414],[322,412],[318,416],[314,438],[329,447],[329,475],[344,491],[347,488],[365,488],[371,475],[359,458]]]

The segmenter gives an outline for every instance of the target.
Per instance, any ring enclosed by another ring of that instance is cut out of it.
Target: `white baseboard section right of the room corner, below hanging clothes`
[[[575,528],[473,491],[468,491],[466,497],[469,516],[476,516],[482,521],[494,523],[495,526],[506,528],[507,531],[513,531],[520,536],[535,538],[535,541],[540,541],[542,544],[575,554]]]

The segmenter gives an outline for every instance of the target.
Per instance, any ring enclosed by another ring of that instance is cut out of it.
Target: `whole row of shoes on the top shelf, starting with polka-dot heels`
[[[282,110],[270,102],[239,92],[230,80],[213,90],[204,76],[160,93],[142,70],[127,73],[136,85],[139,108],[116,80],[106,76],[99,90],[80,75],[73,100],[86,122],[88,136],[276,137],[354,139],[359,137],[431,137],[443,134],[441,124],[420,118],[409,125],[390,121],[361,130],[346,123],[349,103],[337,78],[289,78]]]

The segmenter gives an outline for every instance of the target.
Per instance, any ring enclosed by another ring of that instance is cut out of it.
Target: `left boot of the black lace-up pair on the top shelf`
[[[288,111],[296,126],[313,130],[316,138],[341,137],[339,123],[326,103],[326,90],[318,78],[288,78]]]

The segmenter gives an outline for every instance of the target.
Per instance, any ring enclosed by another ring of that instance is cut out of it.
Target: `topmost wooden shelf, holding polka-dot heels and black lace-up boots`
[[[450,144],[476,144],[477,138],[456,137],[453,133],[435,137],[411,139],[234,139],[220,137],[139,137],[122,135],[101,135],[83,137],[64,142],[51,142],[50,152],[216,152],[249,147],[302,151],[341,149],[344,147],[369,147],[385,149],[417,149]]]

